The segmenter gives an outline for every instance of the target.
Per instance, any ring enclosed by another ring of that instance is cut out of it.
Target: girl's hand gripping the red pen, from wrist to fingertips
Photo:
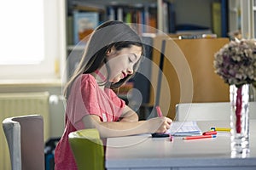
[[[172,124],[172,119],[161,116],[155,117],[148,120],[149,132],[150,133],[165,133]]]

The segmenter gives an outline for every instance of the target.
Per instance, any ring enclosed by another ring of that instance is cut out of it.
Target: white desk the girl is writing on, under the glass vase
[[[230,127],[229,122],[197,122],[202,131]],[[256,169],[256,120],[250,122],[250,156],[230,158],[230,134],[216,139],[152,139],[150,135],[107,140],[108,170],[152,169]]]

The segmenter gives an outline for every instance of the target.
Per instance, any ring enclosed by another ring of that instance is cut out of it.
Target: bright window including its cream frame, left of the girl
[[[1,1],[0,79],[60,77],[64,18],[65,0]]]

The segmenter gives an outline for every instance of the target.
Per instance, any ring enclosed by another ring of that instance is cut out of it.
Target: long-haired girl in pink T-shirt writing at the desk
[[[67,82],[66,127],[55,149],[55,169],[77,169],[68,134],[97,128],[101,138],[139,133],[164,133],[172,120],[162,116],[138,121],[125,101],[114,94],[137,71],[143,43],[120,21],[107,21],[91,34],[73,77]]]

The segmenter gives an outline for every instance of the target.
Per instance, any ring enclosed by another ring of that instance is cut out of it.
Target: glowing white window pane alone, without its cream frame
[[[4,48],[0,64],[26,65],[42,62],[44,59],[44,2],[14,0],[3,3],[0,10],[0,20],[3,23],[0,41]],[[27,4],[32,8],[26,8]]]

